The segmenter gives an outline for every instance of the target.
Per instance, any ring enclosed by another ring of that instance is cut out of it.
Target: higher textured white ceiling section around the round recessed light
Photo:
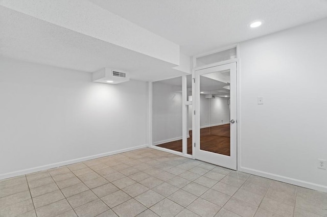
[[[327,17],[326,0],[89,0],[193,56]],[[263,19],[258,29],[249,22]]]

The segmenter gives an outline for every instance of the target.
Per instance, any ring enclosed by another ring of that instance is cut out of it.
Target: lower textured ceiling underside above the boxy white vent
[[[0,32],[0,55],[27,62],[86,72],[109,67],[144,81],[185,74],[174,64],[1,6]]]

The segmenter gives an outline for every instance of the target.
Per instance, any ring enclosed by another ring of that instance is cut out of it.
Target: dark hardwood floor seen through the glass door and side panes
[[[200,129],[201,150],[230,156],[229,131],[229,124]],[[182,140],[157,146],[182,152]],[[192,154],[192,130],[190,130],[190,138],[188,138],[188,154]]]

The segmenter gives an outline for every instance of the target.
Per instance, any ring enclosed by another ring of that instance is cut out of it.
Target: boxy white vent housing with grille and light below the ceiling
[[[106,84],[119,84],[129,81],[129,73],[122,70],[113,70],[110,68],[103,68],[92,74],[94,82]]]

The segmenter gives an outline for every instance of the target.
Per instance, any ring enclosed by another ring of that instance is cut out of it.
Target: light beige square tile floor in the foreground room
[[[327,216],[327,194],[145,148],[1,180],[0,216]]]

